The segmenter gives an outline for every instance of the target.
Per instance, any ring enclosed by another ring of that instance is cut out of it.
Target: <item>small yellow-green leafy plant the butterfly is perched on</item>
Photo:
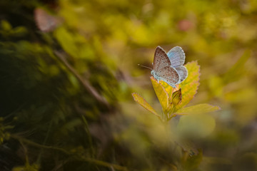
[[[188,77],[185,81],[176,85],[176,88],[172,88],[164,81],[158,83],[155,78],[151,77],[153,89],[157,95],[158,101],[161,103],[162,113],[157,113],[156,110],[154,110],[153,107],[137,93],[132,93],[133,99],[163,122],[168,122],[168,120],[171,120],[171,118],[176,115],[210,113],[219,110],[220,108],[218,106],[207,103],[185,107],[193,99],[194,95],[196,95],[200,84],[200,66],[198,66],[198,63],[193,61],[187,63],[185,66],[188,70]]]

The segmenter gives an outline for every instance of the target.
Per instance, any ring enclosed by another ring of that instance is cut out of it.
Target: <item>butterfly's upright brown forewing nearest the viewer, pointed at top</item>
[[[168,59],[166,52],[160,46],[157,46],[153,58],[153,70],[158,72],[161,68],[171,66],[171,61]]]

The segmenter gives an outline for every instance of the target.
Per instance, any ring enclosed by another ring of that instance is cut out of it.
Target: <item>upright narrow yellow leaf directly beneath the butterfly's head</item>
[[[166,108],[168,107],[168,93],[161,85],[161,83],[158,83],[158,81],[156,81],[156,79],[154,79],[153,77],[151,77],[151,83],[153,84],[153,89],[156,92],[157,98],[161,103],[163,111],[166,110]]]

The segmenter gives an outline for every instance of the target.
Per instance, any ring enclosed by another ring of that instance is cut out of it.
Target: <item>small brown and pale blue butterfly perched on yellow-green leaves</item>
[[[181,83],[188,76],[188,71],[183,64],[185,63],[185,53],[179,46],[171,48],[166,53],[161,46],[157,46],[153,58],[153,70],[151,75],[157,81],[164,81],[173,88]]]

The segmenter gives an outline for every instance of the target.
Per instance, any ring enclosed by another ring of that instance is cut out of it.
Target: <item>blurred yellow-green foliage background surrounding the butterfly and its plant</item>
[[[2,0],[0,22],[1,170],[257,170],[257,1]],[[161,111],[156,46],[222,109],[194,154],[131,96]]]

